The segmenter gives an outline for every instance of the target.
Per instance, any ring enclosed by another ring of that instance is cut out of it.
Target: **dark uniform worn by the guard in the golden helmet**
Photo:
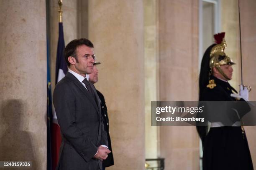
[[[201,100],[236,100],[230,96],[236,90],[228,82],[213,76],[211,79],[216,87],[205,87]],[[253,170],[246,134],[241,126],[210,128],[203,144],[203,170]]]

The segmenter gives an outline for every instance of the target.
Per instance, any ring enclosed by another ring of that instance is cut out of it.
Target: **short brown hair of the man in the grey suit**
[[[64,57],[65,57],[68,67],[70,66],[68,57],[72,56],[77,60],[77,47],[79,47],[80,45],[86,45],[88,47],[93,48],[92,42],[90,40],[87,40],[86,38],[75,39],[75,40],[70,41],[64,50]]]

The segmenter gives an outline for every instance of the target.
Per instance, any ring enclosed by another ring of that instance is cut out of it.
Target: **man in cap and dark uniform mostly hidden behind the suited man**
[[[89,81],[92,82],[93,84],[98,82],[98,69],[97,69],[97,66],[96,66],[98,64],[101,64],[101,63],[100,62],[95,62],[93,64],[92,73],[89,75]],[[103,117],[104,129],[105,129],[105,131],[107,132],[107,135],[108,135],[108,148],[110,150],[112,150],[111,140],[110,140],[110,135],[109,135],[108,109],[107,109],[107,106],[106,106],[104,96],[98,90],[96,90],[96,91],[97,91],[98,96],[100,97],[101,115]],[[102,163],[103,170],[105,169],[105,167],[109,167],[111,165],[114,165],[114,158],[113,158],[113,153],[112,152],[110,154],[108,154],[108,158],[106,160],[103,160],[103,163]]]

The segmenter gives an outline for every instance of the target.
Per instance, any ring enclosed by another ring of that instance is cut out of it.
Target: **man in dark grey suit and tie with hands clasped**
[[[85,38],[72,40],[64,57],[69,71],[54,89],[53,102],[61,128],[58,170],[101,170],[108,157],[108,139],[100,113],[100,99],[92,83],[95,56]]]

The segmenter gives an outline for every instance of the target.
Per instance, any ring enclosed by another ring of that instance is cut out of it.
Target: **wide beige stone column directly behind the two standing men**
[[[144,170],[143,0],[89,0],[88,34],[95,45],[99,82],[110,117],[115,165]]]

